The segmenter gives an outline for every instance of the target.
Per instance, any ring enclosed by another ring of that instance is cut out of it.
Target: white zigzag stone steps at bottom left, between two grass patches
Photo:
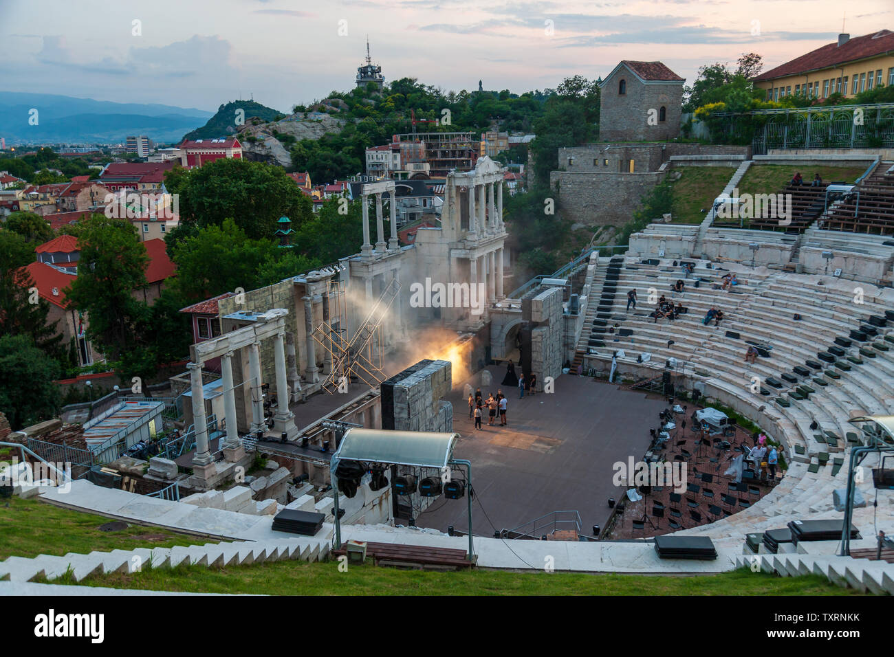
[[[177,566],[225,568],[282,560],[318,561],[324,560],[328,554],[329,542],[316,538],[233,541],[89,554],[69,552],[63,557],[39,554],[34,558],[9,557],[0,561],[0,580],[27,582],[38,576],[52,580],[70,573],[74,581],[80,582],[91,575],[115,572],[132,573]]]

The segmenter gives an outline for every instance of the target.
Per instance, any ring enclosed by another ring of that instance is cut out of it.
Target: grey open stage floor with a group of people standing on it
[[[505,366],[488,367],[494,394]],[[480,373],[468,382],[477,388]],[[482,392],[489,392],[484,386]],[[475,535],[492,536],[495,529],[511,529],[556,510],[576,510],[581,531],[605,527],[611,510],[609,497],[620,499],[624,488],[612,485],[612,465],[643,458],[651,442],[649,429],[657,426],[665,401],[643,392],[619,389],[591,378],[561,375],[555,392],[526,393],[505,389],[509,399],[507,426],[493,426],[483,418],[482,429],[468,419],[468,401],[460,384],[447,398],[453,404],[453,430],[460,438],[453,455],[472,462],[472,504]],[[486,517],[485,517],[486,514]],[[565,514],[564,517],[569,517]],[[434,501],[417,518],[418,526],[446,531],[465,530],[467,502]],[[569,529],[572,526],[557,526]],[[552,526],[544,534],[548,534]],[[541,533],[538,531],[538,534]]]

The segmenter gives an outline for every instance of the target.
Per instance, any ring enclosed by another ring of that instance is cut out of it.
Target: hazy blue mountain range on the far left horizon
[[[30,123],[38,110],[37,125]],[[114,103],[53,94],[0,91],[0,137],[8,146],[46,142],[116,143],[147,135],[175,142],[211,112],[175,105]]]

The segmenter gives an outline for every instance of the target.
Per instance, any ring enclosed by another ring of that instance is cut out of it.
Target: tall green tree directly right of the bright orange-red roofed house
[[[146,248],[125,219],[92,215],[78,240],[78,277],[65,291],[70,307],[89,317],[89,339],[111,360],[136,346],[136,325],[148,307],[133,291],[146,287]]]

